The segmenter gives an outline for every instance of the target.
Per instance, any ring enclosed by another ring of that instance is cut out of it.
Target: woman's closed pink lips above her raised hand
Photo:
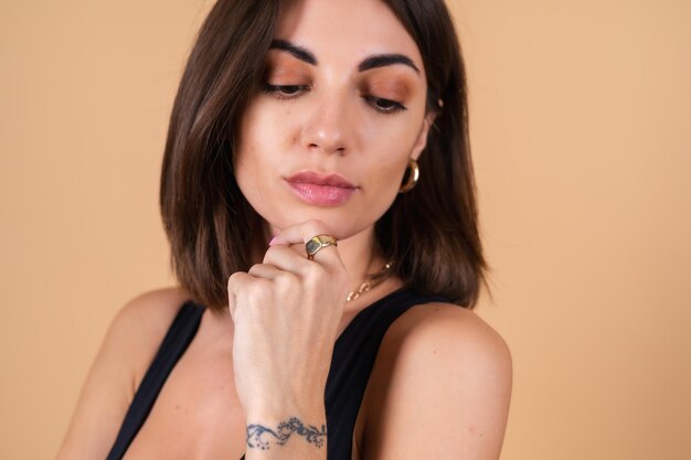
[[[341,205],[358,190],[342,175],[325,175],[313,171],[298,172],[286,181],[300,200],[317,206]]]

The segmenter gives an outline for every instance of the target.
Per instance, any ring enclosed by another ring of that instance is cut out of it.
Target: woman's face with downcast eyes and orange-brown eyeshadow
[[[426,86],[383,1],[291,2],[241,125],[243,194],[273,233],[312,218],[339,239],[371,228],[425,147]]]

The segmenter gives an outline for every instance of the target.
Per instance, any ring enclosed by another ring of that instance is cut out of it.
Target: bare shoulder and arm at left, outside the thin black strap
[[[57,459],[106,457],[136,387],[185,299],[179,288],[157,289],[120,308],[92,363]]]

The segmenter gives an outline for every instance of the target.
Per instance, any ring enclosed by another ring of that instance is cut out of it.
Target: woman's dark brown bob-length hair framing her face
[[[376,242],[406,286],[472,308],[487,264],[478,233],[468,142],[466,74],[443,0],[384,0],[416,42],[437,117],[419,181],[375,224]],[[171,268],[191,298],[227,306],[227,279],[267,248],[263,218],[234,176],[237,130],[259,89],[281,0],[219,0],[205,19],[176,96],[160,207]],[[405,178],[404,178],[405,179]]]

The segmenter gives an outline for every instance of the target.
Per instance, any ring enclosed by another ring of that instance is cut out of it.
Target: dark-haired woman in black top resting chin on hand
[[[442,1],[220,0],[163,160],[180,287],[117,315],[59,458],[498,458],[464,88]]]

